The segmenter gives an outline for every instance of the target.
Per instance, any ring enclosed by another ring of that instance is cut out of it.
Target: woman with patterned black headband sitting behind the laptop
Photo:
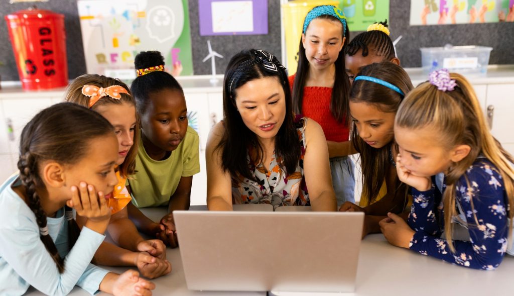
[[[292,110],[287,73],[264,50],[230,60],[223,89],[223,121],[206,149],[207,206],[267,203],[335,211],[328,148],[316,121]]]

